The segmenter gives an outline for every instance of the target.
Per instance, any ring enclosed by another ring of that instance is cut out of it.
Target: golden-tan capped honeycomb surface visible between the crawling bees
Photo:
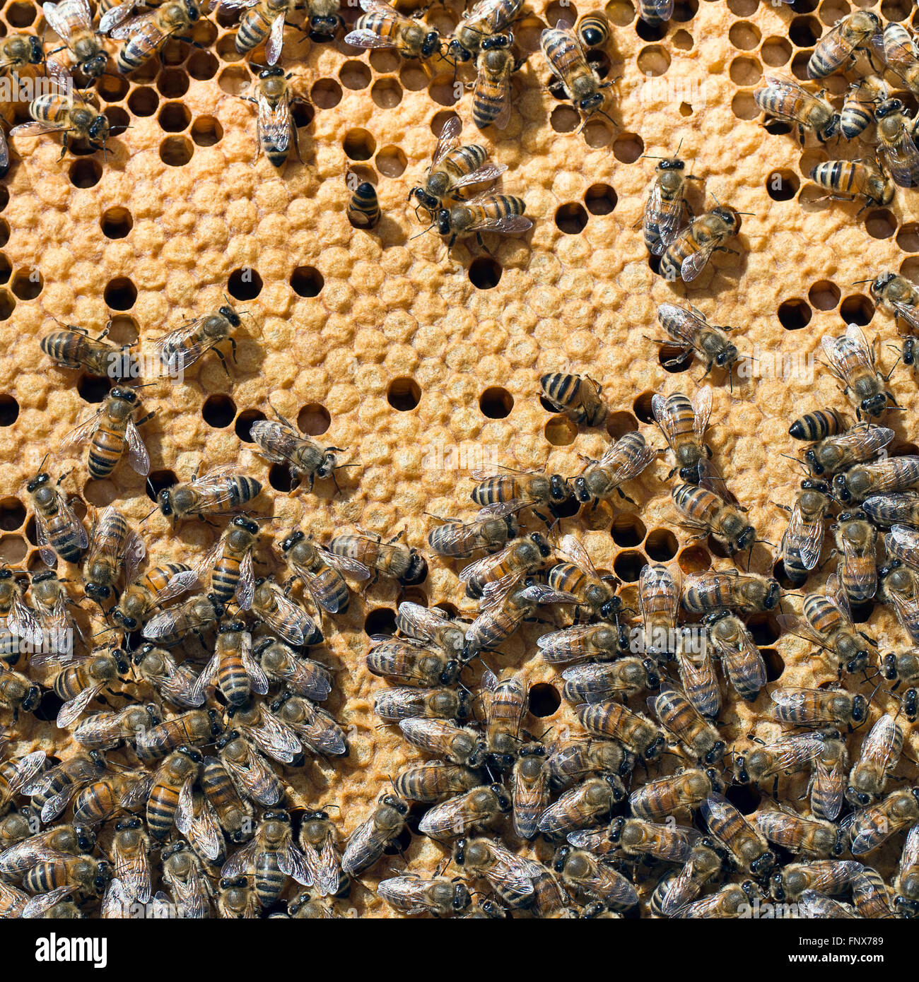
[[[77,496],[78,514],[88,521],[94,510],[117,505],[157,562],[197,558],[219,534],[198,521],[173,533],[165,518],[148,515],[144,479],[125,464],[96,481],[87,478],[85,460],[58,453],[107,385],[49,366],[37,339],[55,318],[90,333],[111,321],[110,340],[139,342],[149,352],[153,339],[227,296],[252,314],[237,332],[230,376],[205,355],[182,384],[159,380],[143,390],[144,409],[156,413],[143,429],[153,488],[188,480],[199,465],[234,464],[265,486],[256,512],[273,518],[273,531],[300,525],[327,541],[340,530],[384,537],[404,530],[426,553],[430,515],[472,513],[477,466],[576,474],[582,457],[600,457],[610,438],[635,429],[661,446],[653,394],[691,394],[703,383],[698,361],[664,366],[672,349],[649,340],[661,335],[661,302],[686,299],[713,323],[732,325],[741,354],[761,361],[806,360],[822,335],[854,322],[880,338],[889,370],[895,355],[885,346],[896,341],[896,327],[857,281],[888,269],[919,275],[914,195],[897,190],[890,206],[861,214],[857,204],[819,200],[824,192],[808,184],[810,169],[865,148],[857,141],[819,147],[813,138],[802,148],[787,127],[764,129],[753,99],[765,74],[805,79],[817,39],[849,3],[681,0],[660,27],[638,20],[630,0],[610,0],[604,9],[612,37],[593,57],[605,78],[618,78],[607,100],[615,125],[594,117],[580,127],[570,105],[549,91],[539,51],[544,27],[590,8],[536,0],[514,28],[527,59],[513,78],[514,111],[503,132],[475,131],[471,92],[454,84],[446,62],[403,61],[390,50],[351,47],[341,35],[317,45],[304,39],[297,14],[281,64],[303,97],[295,110],[303,162],[292,154],[277,171],[258,155],[256,108],[241,98],[253,75],[234,48],[238,17],[218,13],[195,27],[198,46],[170,41],[130,78],[98,82],[100,108],[113,126],[127,127],[116,130],[107,159],[61,158],[54,136],[13,137],[14,162],[0,184],[0,561],[43,569],[23,484],[46,454],[55,476],[76,468],[62,487]],[[871,9],[907,25],[919,17],[905,0]],[[461,11],[455,2],[436,4],[426,19],[446,34]],[[359,13],[342,10],[348,24]],[[3,34],[45,29],[30,0],[5,3],[0,25]],[[49,31],[46,40],[53,38]],[[260,57],[258,49],[253,60]],[[457,78],[471,75],[461,67]],[[840,78],[828,85],[834,96],[844,89]],[[18,119],[22,110],[16,107]],[[434,232],[421,234],[406,198],[454,114],[465,123],[464,142],[483,143],[507,165],[503,191],[522,196],[534,221],[526,236],[486,235],[487,248],[470,239],[448,249]],[[678,144],[687,170],[702,179],[688,191],[695,213],[715,200],[749,213],[731,243],[739,251],[717,253],[688,287],[656,274],[641,231],[655,167],[648,156],[670,155]],[[349,173],[377,189],[383,219],[373,232],[348,221]],[[584,372],[603,385],[611,409],[605,432],[578,430],[541,404],[539,376],[552,370]],[[804,410],[844,401],[819,365],[813,381],[766,372],[731,384],[716,372],[707,381],[716,424],[709,442],[760,536],[772,543],[757,545],[751,569],[770,573],[787,520],[775,503],[792,501],[801,476],[782,457],[795,452],[788,424]],[[905,408],[886,423],[895,429],[896,452],[915,452],[915,387],[901,364],[890,386]],[[338,472],[340,494],[319,481],[313,494],[289,496],[283,468],[255,453],[249,427],[271,415],[269,403],[319,442],[348,448],[343,456],[357,466]],[[585,508],[561,522],[562,531],[583,532],[595,565],[623,581],[633,606],[647,561],[684,573],[730,565],[717,544],[693,541],[676,522],[665,481],[670,465],[661,456],[629,486],[637,504]],[[263,540],[261,572],[277,562]],[[326,630],[316,657],[334,668],[336,683],[325,706],[350,728],[350,755],[310,760],[285,769],[284,778],[303,801],[337,806],[342,841],[370,815],[390,778],[420,759],[397,728],[380,727],[373,715],[373,692],[385,682],[367,671],[368,635],[392,629],[403,599],[475,616],[457,578],[462,565],[430,557],[425,582],[405,590],[380,579]],[[76,567],[66,573],[80,578]],[[819,583],[815,572],[807,589]],[[795,596],[785,603],[799,609]],[[99,629],[87,614],[78,614],[84,629]],[[901,641],[880,604],[870,625],[882,649]],[[577,731],[573,711],[559,703],[556,673],[534,658],[539,629],[525,626],[486,660],[496,671],[526,667],[534,686],[529,732]],[[808,644],[780,635],[773,617],[755,621],[754,633],[770,687],[835,680]],[[764,719],[769,705],[767,690],[750,706],[729,696],[722,715],[728,745],[751,732],[777,736],[777,725]],[[897,705],[880,690],[873,713]],[[45,711],[24,715],[10,752],[41,748],[58,759],[75,752],[70,735],[54,725],[56,708],[43,702]],[[860,738],[852,737],[850,755]],[[907,746],[915,757],[912,730]],[[742,791],[736,800],[749,814],[761,795]],[[414,834],[400,846],[403,856],[384,857],[364,873],[342,906],[358,916],[391,916],[376,883],[406,864],[442,867],[448,855]],[[521,848],[544,861],[551,854],[544,843]],[[890,864],[876,864],[890,872]]]

